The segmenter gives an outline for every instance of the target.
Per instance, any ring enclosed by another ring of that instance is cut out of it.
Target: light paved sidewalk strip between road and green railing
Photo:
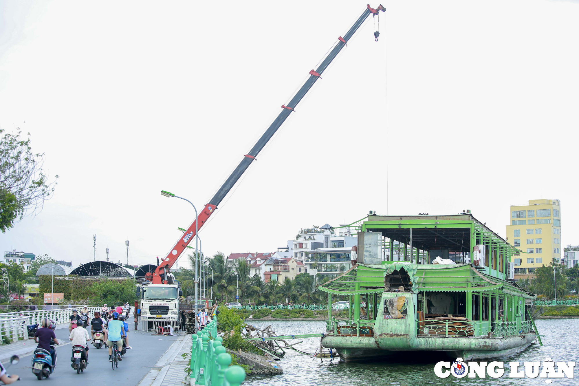
[[[167,349],[151,371],[138,383],[138,386],[183,386],[189,384],[188,379],[185,379],[185,368],[189,367],[190,362],[189,359],[185,359],[181,355],[184,352],[190,354],[191,335],[183,334],[178,335],[178,337],[179,340]]]

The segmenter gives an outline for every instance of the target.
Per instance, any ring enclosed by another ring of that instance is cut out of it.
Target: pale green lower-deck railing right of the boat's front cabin
[[[489,322],[489,321],[437,321],[416,322],[419,337],[509,337],[530,333],[531,321]]]

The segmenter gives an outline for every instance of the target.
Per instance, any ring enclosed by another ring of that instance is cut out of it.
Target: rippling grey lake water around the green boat
[[[544,360],[551,357],[555,362],[573,360],[579,362],[579,332],[577,319],[551,319],[536,321],[543,346],[533,343],[529,348],[515,356],[500,358],[505,367],[508,362]],[[272,325],[277,334],[311,334],[324,332],[325,322],[321,321],[253,321],[258,328]],[[303,343],[296,347],[306,352],[314,352],[320,347],[320,338],[301,339]],[[339,385],[339,386],[370,386],[370,385],[541,385],[544,378],[509,378],[510,369],[505,368],[501,378],[438,378],[434,375],[434,365],[438,358],[419,358],[416,362],[405,359],[401,362],[375,361],[365,363],[340,363],[338,360],[323,358],[312,359],[312,355],[299,354],[290,349],[285,358],[278,363],[284,373],[280,376],[246,378],[244,385],[278,386],[278,385]],[[448,359],[446,359],[448,360]],[[578,363],[579,365],[579,363]],[[524,368],[524,367],[523,367]],[[521,369],[521,367],[519,367]],[[552,385],[579,385],[579,370],[575,370],[576,378],[552,378]]]

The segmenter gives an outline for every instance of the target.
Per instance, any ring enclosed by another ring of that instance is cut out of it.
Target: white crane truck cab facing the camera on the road
[[[160,327],[181,326],[179,318],[179,296],[177,284],[146,284],[141,286],[141,312],[138,329],[151,331]]]

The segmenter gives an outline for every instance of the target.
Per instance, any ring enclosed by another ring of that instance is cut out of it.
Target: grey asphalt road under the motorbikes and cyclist
[[[129,327],[134,323],[129,322]],[[59,329],[55,332],[58,340],[70,342],[68,340],[68,329]],[[157,360],[164,354],[174,341],[176,336],[152,336],[150,334],[129,332],[129,343],[133,349],[127,350],[123,356],[123,361],[119,362],[119,368],[112,370],[108,361],[108,349],[96,349],[89,344],[89,366],[84,372],[76,374],[76,370],[71,367],[72,347],[66,345],[56,346],[57,364],[56,370],[49,378],[42,381],[36,379],[31,370],[32,356],[21,356],[20,363],[8,368],[9,374],[18,374],[21,381],[14,383],[15,386],[28,385],[64,385],[76,382],[91,382],[93,385],[123,385],[133,386],[139,383],[149,370],[157,363]],[[6,365],[5,365],[6,366]],[[42,382],[42,383],[41,383]],[[97,383],[93,383],[97,382]]]

